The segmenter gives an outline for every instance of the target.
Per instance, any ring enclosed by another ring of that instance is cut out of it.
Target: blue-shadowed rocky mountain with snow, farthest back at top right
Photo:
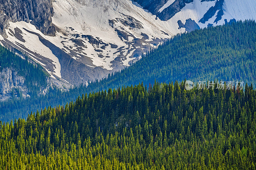
[[[191,18],[201,28],[230,20],[255,19],[253,0],[134,0],[163,21]],[[225,21],[226,20],[226,21]]]

